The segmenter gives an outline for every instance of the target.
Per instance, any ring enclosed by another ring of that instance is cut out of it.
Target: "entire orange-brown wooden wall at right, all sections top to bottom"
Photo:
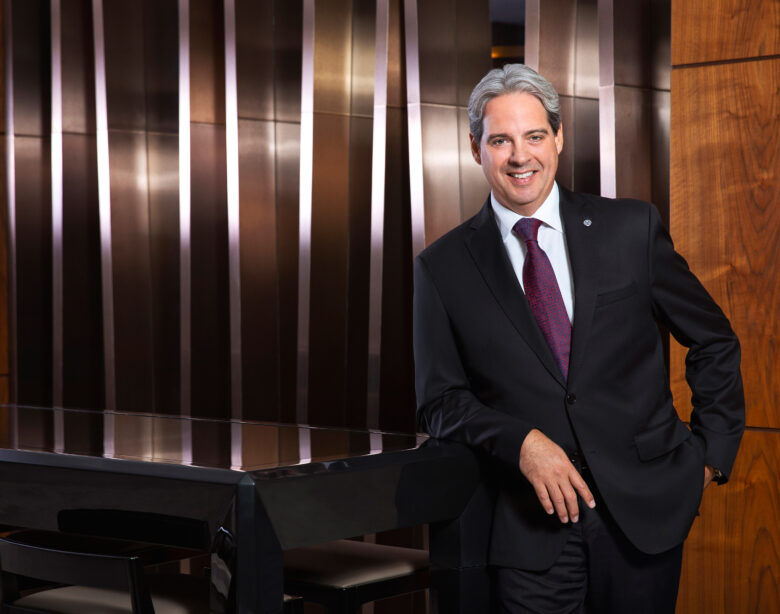
[[[779,45],[776,0],[672,3],[670,230],[740,338],[747,401],[731,479],[705,493],[686,544],[678,614],[780,602]],[[683,361],[672,342],[685,414]]]

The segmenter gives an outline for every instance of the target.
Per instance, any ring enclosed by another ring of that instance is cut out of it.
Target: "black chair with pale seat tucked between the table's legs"
[[[428,553],[339,540],[284,553],[284,590],[327,614],[353,614],[364,603],[428,587]]]

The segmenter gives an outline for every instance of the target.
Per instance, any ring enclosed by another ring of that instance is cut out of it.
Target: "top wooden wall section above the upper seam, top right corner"
[[[672,2],[672,65],[780,53],[777,0]]]

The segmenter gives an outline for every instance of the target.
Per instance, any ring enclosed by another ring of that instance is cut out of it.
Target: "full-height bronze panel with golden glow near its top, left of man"
[[[376,12],[318,3],[308,399],[310,421],[365,425]]]

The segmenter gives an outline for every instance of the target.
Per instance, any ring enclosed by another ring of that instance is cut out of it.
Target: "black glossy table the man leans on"
[[[232,563],[212,577],[232,580],[237,612],[265,614],[281,611],[284,550],[431,523],[432,611],[482,610],[484,543],[461,523],[479,466],[463,446],[23,407],[0,407],[0,426],[2,524],[196,548],[228,535]]]

